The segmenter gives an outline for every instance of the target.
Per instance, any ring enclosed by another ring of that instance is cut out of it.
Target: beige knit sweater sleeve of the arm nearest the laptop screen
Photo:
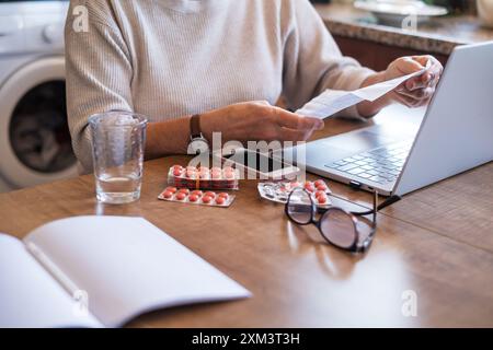
[[[298,109],[326,89],[352,91],[374,71],[343,57],[322,19],[308,0],[290,0],[282,9],[284,25],[284,95]],[[357,108],[341,115],[360,117]]]

